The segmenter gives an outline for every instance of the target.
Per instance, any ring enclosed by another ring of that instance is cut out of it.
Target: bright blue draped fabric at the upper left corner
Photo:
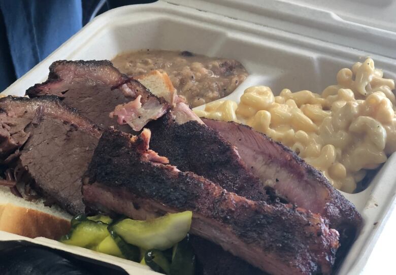
[[[82,27],[81,0],[0,0],[19,78]]]

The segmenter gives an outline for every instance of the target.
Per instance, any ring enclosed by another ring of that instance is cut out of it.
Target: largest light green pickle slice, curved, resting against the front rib
[[[110,230],[114,230],[128,244],[145,250],[166,250],[187,235],[191,218],[192,212],[185,211],[146,221],[124,219],[112,225]]]

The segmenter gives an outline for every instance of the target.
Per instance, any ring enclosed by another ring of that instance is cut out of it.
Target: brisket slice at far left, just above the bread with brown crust
[[[27,136],[18,145],[19,162],[35,180],[35,189],[72,214],[83,212],[81,177],[101,130],[56,96],[5,97],[0,108],[0,122],[11,138]]]

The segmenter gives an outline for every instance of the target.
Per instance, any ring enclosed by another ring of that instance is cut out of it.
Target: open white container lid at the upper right
[[[396,58],[395,0],[167,2]]]

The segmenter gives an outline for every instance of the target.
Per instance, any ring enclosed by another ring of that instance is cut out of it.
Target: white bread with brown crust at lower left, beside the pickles
[[[9,188],[0,188],[0,231],[58,239],[68,233],[70,219],[56,205],[46,207],[41,199],[27,201],[12,194]]]

